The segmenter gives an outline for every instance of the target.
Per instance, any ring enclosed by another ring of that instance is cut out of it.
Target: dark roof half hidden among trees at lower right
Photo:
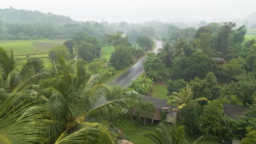
[[[225,115],[235,120],[238,120],[240,116],[244,116],[246,109],[247,107],[244,105],[223,104]]]

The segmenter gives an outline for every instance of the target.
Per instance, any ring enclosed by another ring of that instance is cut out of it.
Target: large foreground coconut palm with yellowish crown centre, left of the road
[[[96,106],[98,100],[109,88],[101,83],[101,76],[92,75],[79,84],[83,65],[78,59],[68,65],[64,58],[58,58],[61,72],[51,81],[54,84],[38,94],[49,107],[49,116],[44,119],[45,133],[42,143],[114,143],[115,137],[106,122],[123,113],[124,109],[136,104],[135,100],[117,99]]]

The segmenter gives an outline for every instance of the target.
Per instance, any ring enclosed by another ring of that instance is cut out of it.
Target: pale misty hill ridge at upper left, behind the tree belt
[[[52,13],[41,13],[40,11],[18,10],[14,8],[0,9],[0,21],[15,23],[32,23],[32,22],[72,22],[68,16],[54,15]]]

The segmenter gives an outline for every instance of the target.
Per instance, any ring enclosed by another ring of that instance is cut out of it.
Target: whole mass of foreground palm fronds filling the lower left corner
[[[21,73],[8,80],[11,71],[23,69],[12,52],[0,49],[0,61],[0,143],[115,143],[107,122],[137,103],[117,99],[96,106],[109,88],[98,74],[84,79],[79,59],[59,57],[53,77],[22,73],[21,80],[16,79]],[[7,81],[15,85],[5,87]]]

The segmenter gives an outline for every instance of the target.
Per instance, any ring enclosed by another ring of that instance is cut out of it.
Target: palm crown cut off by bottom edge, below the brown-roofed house
[[[147,134],[150,140],[158,144],[187,144],[184,125],[160,123],[153,134]],[[202,139],[199,137],[193,144]]]

